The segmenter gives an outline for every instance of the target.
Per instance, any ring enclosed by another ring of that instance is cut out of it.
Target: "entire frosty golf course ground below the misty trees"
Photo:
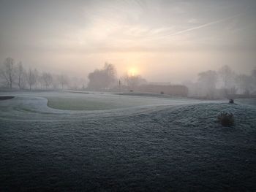
[[[255,99],[0,96],[0,191],[256,190]]]

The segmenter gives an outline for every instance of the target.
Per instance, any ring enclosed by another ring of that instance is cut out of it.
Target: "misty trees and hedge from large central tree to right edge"
[[[219,99],[232,96],[256,95],[256,68],[251,74],[237,74],[230,66],[217,71],[208,70],[197,74],[197,82],[187,81],[182,85],[151,85],[140,75],[116,77],[112,64],[96,69],[89,74],[88,89],[93,91],[148,91],[170,93],[178,96],[193,96],[205,99]],[[161,91],[162,90],[162,91]]]

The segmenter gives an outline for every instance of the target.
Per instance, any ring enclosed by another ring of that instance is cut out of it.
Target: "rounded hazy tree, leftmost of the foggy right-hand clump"
[[[216,90],[217,84],[217,72],[211,70],[200,72],[198,74],[198,83],[205,96],[214,98],[214,91]]]

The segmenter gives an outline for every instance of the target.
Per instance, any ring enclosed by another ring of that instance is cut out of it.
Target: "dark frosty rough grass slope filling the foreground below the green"
[[[0,120],[0,191],[255,191],[256,114],[197,104],[77,122]]]

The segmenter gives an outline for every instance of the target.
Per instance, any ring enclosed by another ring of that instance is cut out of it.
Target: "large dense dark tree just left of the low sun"
[[[116,68],[106,63],[103,69],[96,69],[88,75],[88,88],[95,91],[105,90],[116,82]]]

